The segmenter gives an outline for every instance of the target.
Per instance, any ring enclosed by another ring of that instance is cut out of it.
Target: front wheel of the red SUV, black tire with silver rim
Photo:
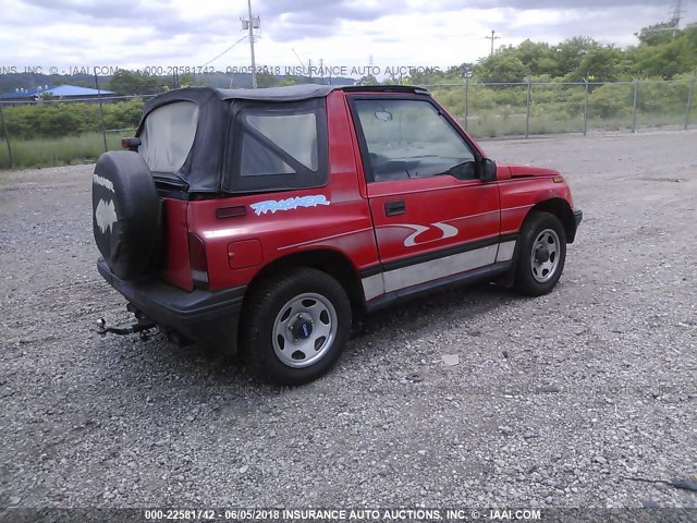
[[[560,219],[550,212],[531,212],[521,228],[514,259],[514,288],[518,292],[529,296],[550,292],[566,260],[566,233]]]

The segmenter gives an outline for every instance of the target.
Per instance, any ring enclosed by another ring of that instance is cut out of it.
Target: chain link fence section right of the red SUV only
[[[424,85],[476,137],[688,129],[696,78]]]

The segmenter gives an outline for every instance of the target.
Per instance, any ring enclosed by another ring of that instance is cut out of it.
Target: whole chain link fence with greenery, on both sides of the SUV
[[[475,137],[688,129],[697,77],[423,85]],[[132,135],[155,95],[0,99],[0,169],[95,161]]]

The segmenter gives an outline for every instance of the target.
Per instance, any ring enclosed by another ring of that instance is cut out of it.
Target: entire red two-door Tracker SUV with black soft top
[[[140,321],[286,385],[398,300],[551,291],[582,219],[558,171],[496,165],[417,87],[178,89],[124,145],[93,178],[99,272]]]

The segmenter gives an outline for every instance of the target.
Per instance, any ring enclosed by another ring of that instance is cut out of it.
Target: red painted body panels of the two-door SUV
[[[406,256],[515,233],[530,209],[547,200],[559,200],[573,211],[568,186],[559,172],[536,167],[499,165],[497,180],[489,182],[439,175],[366,183],[348,96],[335,90],[326,98],[330,168],[326,186],[188,202],[164,198],[167,255],[161,279],[193,289],[186,245],[189,232],[204,240],[208,288],[215,291],[248,285],[268,264],[298,253],[335,252],[359,278],[362,270],[365,273]],[[250,207],[262,200],[310,195],[323,195],[330,205],[262,215]],[[405,212],[386,216],[386,204],[394,199],[404,202]],[[244,207],[246,214],[216,216],[217,209],[232,206]],[[417,244],[407,247],[405,241],[415,230],[394,227],[401,223],[428,230],[416,234]],[[435,223],[443,229],[432,227]],[[451,228],[456,233],[449,235]]]

